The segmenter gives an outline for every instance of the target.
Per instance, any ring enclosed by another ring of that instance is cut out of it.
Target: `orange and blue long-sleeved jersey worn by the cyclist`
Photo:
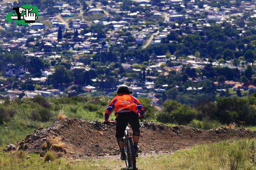
[[[140,101],[132,95],[122,93],[114,97],[108,105],[105,111],[105,121],[108,121],[113,111],[115,111],[115,116],[118,117],[118,113],[124,109],[133,111],[134,114],[138,114],[139,117],[144,116],[144,107]]]

